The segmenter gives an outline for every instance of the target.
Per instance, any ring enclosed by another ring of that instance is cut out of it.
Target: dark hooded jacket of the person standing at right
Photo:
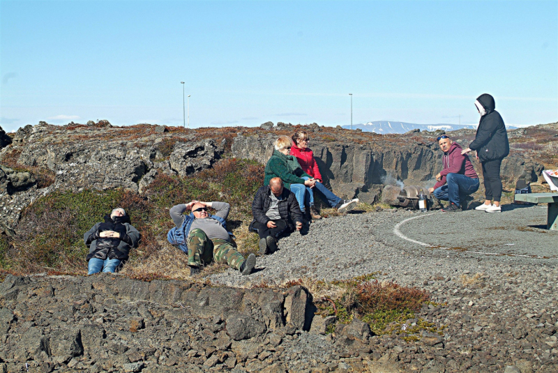
[[[476,137],[469,145],[469,149],[476,151],[481,162],[504,159],[510,153],[510,144],[504,120],[495,110],[494,98],[488,93],[484,93],[478,96],[477,100],[483,105],[486,114],[481,116],[481,121],[476,129]]]

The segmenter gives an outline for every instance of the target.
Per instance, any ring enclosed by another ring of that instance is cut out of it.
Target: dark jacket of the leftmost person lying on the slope
[[[101,237],[102,231],[115,231],[120,234],[120,238]],[[84,242],[89,247],[87,260],[98,259],[128,259],[131,248],[137,246],[140,241],[140,232],[130,224],[130,216],[105,215],[105,222],[93,225],[84,234]]]

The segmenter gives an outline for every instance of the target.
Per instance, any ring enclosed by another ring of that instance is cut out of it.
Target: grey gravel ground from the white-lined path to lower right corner
[[[421,372],[504,372],[508,365],[517,368],[510,372],[557,372],[558,231],[539,228],[546,214],[544,206],[515,205],[495,214],[350,213],[283,238],[250,276],[209,278],[247,287],[379,272],[379,280],[430,291],[443,305],[423,307],[418,317],[447,327],[440,351],[393,337],[377,340],[377,358]],[[394,348],[401,350],[395,358]]]

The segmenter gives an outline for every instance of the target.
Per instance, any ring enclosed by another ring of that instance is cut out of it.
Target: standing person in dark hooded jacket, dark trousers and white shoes
[[[481,114],[481,121],[476,129],[476,137],[469,148],[461,153],[476,151],[476,157],[483,166],[485,203],[475,210],[487,213],[499,213],[500,198],[502,197],[502,178],[500,178],[500,166],[502,160],[510,153],[508,132],[500,113],[495,110],[494,98],[484,93],[475,101],[476,109]],[[494,204],[492,205],[492,199]]]

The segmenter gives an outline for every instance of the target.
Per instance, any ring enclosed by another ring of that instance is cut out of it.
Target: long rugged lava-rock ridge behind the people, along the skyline
[[[273,140],[296,128],[301,126],[271,122],[263,128],[197,130],[156,125],[118,128],[108,121],[27,125],[0,151],[0,225],[4,231],[12,229],[23,208],[53,190],[125,188],[141,193],[158,173],[193,174],[211,167],[229,147],[236,158],[265,164]],[[303,128],[310,133],[324,181],[342,197],[373,203],[384,184],[433,185],[433,176],[442,169],[434,133],[376,135],[315,123]],[[466,145],[474,131],[460,130],[455,137]],[[542,168],[516,152],[504,160],[502,176],[508,184],[518,178],[536,181]],[[29,169],[35,172],[29,174]],[[476,169],[480,171],[480,165]],[[52,181],[41,183],[42,173]]]

